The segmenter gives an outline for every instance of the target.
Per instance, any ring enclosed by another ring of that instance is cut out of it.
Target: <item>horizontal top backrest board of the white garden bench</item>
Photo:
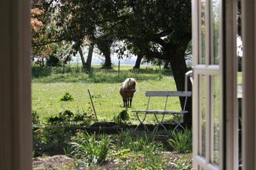
[[[146,96],[181,96],[189,97],[191,96],[191,91],[147,91]]]

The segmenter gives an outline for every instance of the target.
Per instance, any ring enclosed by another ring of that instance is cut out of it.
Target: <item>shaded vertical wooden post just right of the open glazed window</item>
[[[225,95],[226,162],[227,170],[238,170],[238,99],[237,99],[237,1],[225,1]]]

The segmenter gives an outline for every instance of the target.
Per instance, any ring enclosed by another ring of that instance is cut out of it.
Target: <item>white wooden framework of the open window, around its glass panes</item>
[[[193,27],[193,169],[223,169],[223,29],[222,29],[222,19],[220,19],[220,59],[219,64],[211,64],[212,57],[212,23],[211,18],[211,3],[212,1],[205,1],[205,63],[201,63],[201,1],[192,1],[192,27]],[[222,9],[222,4],[219,4],[220,9]],[[220,18],[222,16],[222,10],[220,10]],[[205,156],[202,156],[202,140],[201,140],[201,106],[200,106],[200,82],[201,75],[205,76],[205,93],[206,93],[206,109],[205,109]],[[213,160],[213,127],[212,127],[212,114],[213,114],[213,104],[212,104],[212,76],[218,76],[220,80],[220,145],[219,145],[219,166],[214,164]]]

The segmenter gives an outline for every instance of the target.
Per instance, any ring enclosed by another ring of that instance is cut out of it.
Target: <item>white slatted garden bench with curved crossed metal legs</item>
[[[140,122],[139,125],[135,128],[135,131],[139,128],[139,126],[142,125],[146,128],[146,131],[148,132],[148,128],[146,127],[145,124],[143,124],[147,114],[154,114],[155,117],[156,117],[156,120],[158,122],[158,124],[156,125],[156,127],[153,130],[153,134],[156,133],[156,130],[159,126],[162,126],[164,128],[164,130],[167,131],[167,129],[162,124],[162,122],[163,122],[164,116],[165,115],[170,115],[170,114],[174,115],[174,117],[175,117],[174,122],[177,124],[177,126],[174,128],[174,130],[176,130],[179,126],[182,129],[184,129],[184,127],[181,125],[181,123],[183,122],[183,115],[188,112],[188,111],[185,111],[185,108],[186,108],[187,97],[191,96],[191,91],[147,91],[145,93],[145,96],[148,96],[146,110],[133,110],[132,111],[132,112],[135,112],[135,114],[136,114],[136,116],[137,116],[137,118]],[[166,110],[168,98],[172,97],[172,96],[185,97],[185,103],[184,103],[183,110],[180,110],[180,111]],[[150,104],[150,98],[151,97],[166,97],[164,110],[148,110],[148,105]],[[144,117],[143,117],[142,120],[140,119],[138,114],[144,114]],[[162,119],[160,121],[157,118],[157,115],[162,115]],[[181,120],[177,119],[177,115],[182,116]]]

